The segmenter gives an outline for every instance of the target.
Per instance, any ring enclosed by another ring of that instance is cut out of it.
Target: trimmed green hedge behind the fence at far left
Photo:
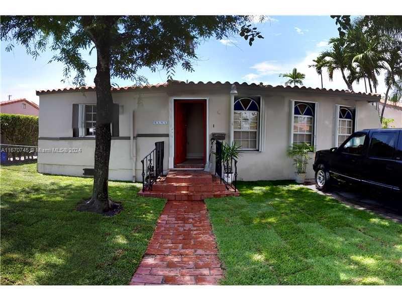
[[[39,117],[0,113],[1,143],[38,145]]]

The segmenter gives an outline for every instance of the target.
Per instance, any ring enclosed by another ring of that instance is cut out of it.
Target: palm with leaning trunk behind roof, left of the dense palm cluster
[[[352,83],[348,81],[345,75],[345,71],[352,69],[352,60],[346,40],[344,38],[332,38],[329,44],[332,44],[332,49],[323,51],[319,56],[319,60],[327,61],[326,67],[330,80],[334,79],[334,71],[339,70],[348,90],[353,91]]]

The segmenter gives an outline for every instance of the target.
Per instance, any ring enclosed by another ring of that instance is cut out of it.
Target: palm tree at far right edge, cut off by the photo
[[[387,86],[380,116],[381,123],[389,91],[392,89],[392,98],[398,99],[402,96],[402,50],[397,43],[395,44],[396,47],[390,49],[381,60],[385,69],[385,84]]]

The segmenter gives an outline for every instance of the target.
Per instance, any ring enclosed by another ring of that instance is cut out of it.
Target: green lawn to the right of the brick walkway
[[[286,182],[210,199],[221,284],[402,284],[402,225]]]

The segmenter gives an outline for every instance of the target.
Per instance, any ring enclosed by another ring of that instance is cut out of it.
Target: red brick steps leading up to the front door
[[[200,201],[208,198],[239,196],[238,191],[227,189],[218,177],[204,171],[173,170],[159,179],[152,191],[141,190],[143,197],[163,198],[176,201]]]

